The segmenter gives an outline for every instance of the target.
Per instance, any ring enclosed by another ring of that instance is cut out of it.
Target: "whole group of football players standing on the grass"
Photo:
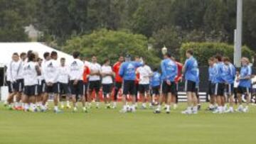
[[[176,62],[169,53],[164,54],[161,70],[146,65],[142,57],[131,55],[119,56],[119,60],[110,65],[110,59],[105,58],[102,65],[97,63],[97,56],[92,55],[91,61],[82,58],[80,52],[73,52],[73,60],[66,62],[65,57],[58,59],[58,52],[45,52],[43,59],[37,52],[29,50],[21,54],[14,53],[12,60],[6,65],[6,84],[9,96],[6,106],[9,109],[23,111],[47,111],[48,99],[53,96],[54,112],[59,113],[59,103],[64,108],[78,111],[78,101],[82,103],[82,111],[87,112],[95,101],[95,108],[100,108],[102,96],[106,109],[116,109],[119,95],[122,95],[121,113],[135,112],[138,101],[142,102],[141,109],[146,109],[146,102],[154,113],[161,113],[165,104],[166,113],[171,106],[176,109],[178,101],[178,83],[185,82],[188,107],[181,113],[198,113],[200,99],[198,97],[199,69],[198,62],[193,57],[193,50],[186,51],[186,62],[182,65]],[[249,60],[242,58],[239,76],[235,79],[235,67],[228,57],[215,55],[209,63],[209,110],[213,113],[231,113],[233,109],[234,83],[237,85],[238,111],[247,112],[248,106],[242,106],[242,94],[247,95],[250,102],[249,90],[252,78]],[[161,72],[161,73],[160,73]],[[66,99],[62,99],[63,95]],[[228,99],[226,99],[228,96]],[[132,104],[129,104],[128,98]],[[230,107],[226,103],[230,101]]]

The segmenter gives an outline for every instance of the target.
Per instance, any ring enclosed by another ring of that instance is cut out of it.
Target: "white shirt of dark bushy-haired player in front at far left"
[[[25,86],[33,86],[38,84],[36,65],[36,62],[26,62],[26,64],[24,65],[23,77]]]

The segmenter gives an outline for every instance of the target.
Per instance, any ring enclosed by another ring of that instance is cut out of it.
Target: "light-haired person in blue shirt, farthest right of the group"
[[[250,103],[250,87],[251,87],[251,75],[252,75],[252,68],[249,65],[250,61],[247,57],[242,57],[242,67],[240,70],[240,77],[238,77],[237,81],[238,84],[238,111],[247,112],[248,105]],[[247,96],[247,106],[243,109],[242,106],[242,94]]]

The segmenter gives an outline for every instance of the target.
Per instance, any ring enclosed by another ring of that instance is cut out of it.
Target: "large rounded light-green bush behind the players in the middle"
[[[98,61],[108,57],[111,62],[118,60],[119,55],[137,55],[151,65],[159,65],[160,59],[155,50],[148,50],[148,41],[144,35],[133,34],[129,31],[108,31],[101,29],[89,35],[82,35],[67,41],[63,50],[72,53],[79,50],[86,57],[97,55]]]

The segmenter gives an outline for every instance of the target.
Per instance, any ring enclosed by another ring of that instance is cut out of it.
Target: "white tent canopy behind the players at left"
[[[38,52],[39,57],[43,58],[44,52],[52,52],[53,48],[50,48],[46,45],[43,45],[42,43],[0,43],[0,66],[6,65],[11,61],[11,55],[14,52],[18,52],[18,54],[21,54],[21,52],[28,52],[28,50],[33,50]],[[55,50],[58,52],[58,59],[60,57],[65,57],[67,62],[70,62],[73,57],[71,55],[66,54],[65,52],[61,52],[59,50]]]

